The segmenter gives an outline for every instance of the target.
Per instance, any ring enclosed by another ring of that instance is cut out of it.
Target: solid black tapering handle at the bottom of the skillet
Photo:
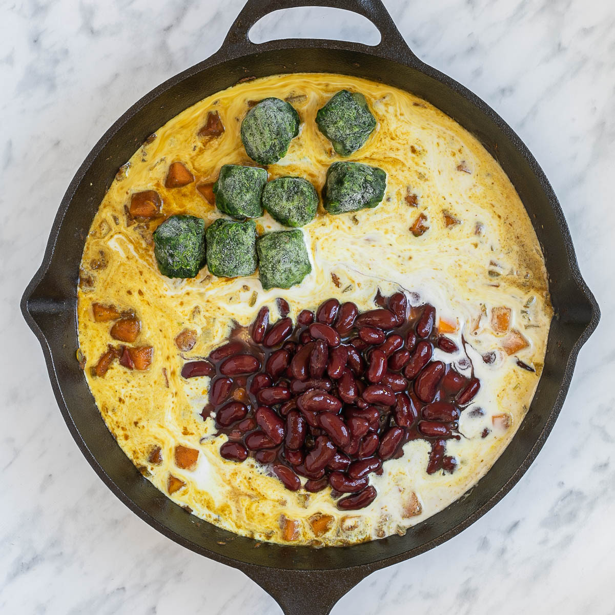
[[[278,603],[284,615],[329,615],[337,601],[371,573],[363,567],[341,571],[238,567]]]

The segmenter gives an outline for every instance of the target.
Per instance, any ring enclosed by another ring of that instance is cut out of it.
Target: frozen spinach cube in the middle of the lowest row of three
[[[207,268],[218,277],[251,276],[256,271],[256,223],[218,218],[205,231]]]

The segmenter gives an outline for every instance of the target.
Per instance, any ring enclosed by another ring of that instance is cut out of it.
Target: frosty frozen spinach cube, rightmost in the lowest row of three
[[[312,266],[303,232],[270,232],[256,240],[258,275],[265,290],[290,288],[306,277]]]

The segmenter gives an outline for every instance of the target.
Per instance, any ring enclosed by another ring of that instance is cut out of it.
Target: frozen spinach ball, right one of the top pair
[[[362,93],[341,90],[318,110],[316,124],[340,156],[350,156],[365,145],[376,118]]]

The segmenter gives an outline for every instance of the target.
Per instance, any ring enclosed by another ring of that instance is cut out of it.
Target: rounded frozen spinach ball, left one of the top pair
[[[274,164],[288,151],[299,133],[299,114],[279,98],[265,98],[241,122],[241,140],[248,156],[258,164]]]

